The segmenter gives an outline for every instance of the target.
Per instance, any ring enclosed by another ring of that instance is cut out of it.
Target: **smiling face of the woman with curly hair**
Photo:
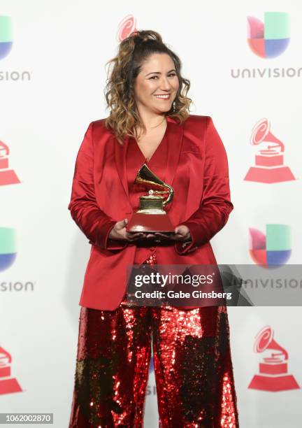
[[[165,53],[150,55],[143,62],[134,84],[139,112],[162,114],[171,110],[179,82],[173,59]]]

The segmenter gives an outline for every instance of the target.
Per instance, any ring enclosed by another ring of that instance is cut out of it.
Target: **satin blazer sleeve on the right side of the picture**
[[[210,241],[224,224],[233,210],[229,189],[229,168],[227,153],[213,120],[208,117],[204,148],[203,197],[200,207],[185,224],[191,233],[189,243],[175,243],[179,254],[196,250]]]

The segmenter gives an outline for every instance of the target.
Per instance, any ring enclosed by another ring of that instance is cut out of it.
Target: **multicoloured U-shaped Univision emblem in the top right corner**
[[[264,22],[247,17],[247,43],[252,52],[261,58],[275,58],[289,45],[289,14],[265,12]]]

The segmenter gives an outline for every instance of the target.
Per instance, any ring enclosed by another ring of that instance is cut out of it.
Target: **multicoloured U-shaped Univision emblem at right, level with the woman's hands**
[[[266,268],[285,264],[292,254],[290,227],[287,224],[266,224],[266,234],[250,228],[250,256]]]

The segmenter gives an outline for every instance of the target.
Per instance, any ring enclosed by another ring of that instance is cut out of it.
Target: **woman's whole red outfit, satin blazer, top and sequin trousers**
[[[215,264],[208,240],[223,227],[232,205],[227,157],[213,122],[192,116],[180,127],[168,120],[148,161],[154,173],[173,183],[175,199],[167,211],[175,226],[187,224],[191,231],[193,242],[185,248],[108,239],[115,221],[130,217],[145,194],[134,186],[145,158],[133,139],[121,147],[106,132],[101,121],[89,127],[69,206],[92,243],[69,427],[143,427],[151,344],[159,427],[238,427],[226,308],[183,311],[132,307],[123,300],[127,264]]]

